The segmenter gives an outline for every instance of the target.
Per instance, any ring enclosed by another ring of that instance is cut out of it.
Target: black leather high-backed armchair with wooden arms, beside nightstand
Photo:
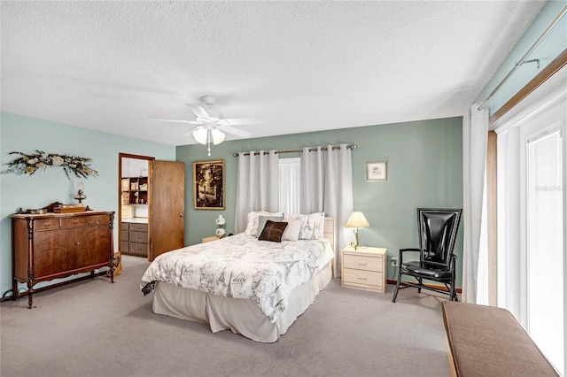
[[[458,301],[454,290],[454,260],[456,257],[453,250],[461,214],[460,209],[417,209],[419,249],[400,249],[400,273],[393,291],[392,303],[396,302],[399,289],[409,287],[417,288],[417,292],[430,289],[449,295],[450,301]],[[419,260],[404,261],[404,254],[408,251],[419,252]],[[401,281],[403,275],[416,278],[416,282]],[[447,290],[425,285],[423,280],[443,283]]]

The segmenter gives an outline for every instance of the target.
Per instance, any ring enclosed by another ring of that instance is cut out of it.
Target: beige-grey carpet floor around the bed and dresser
[[[445,299],[346,289],[335,279],[274,343],[151,311],[149,265],[124,256],[111,284],[75,282],[0,305],[0,374],[11,376],[447,376]]]

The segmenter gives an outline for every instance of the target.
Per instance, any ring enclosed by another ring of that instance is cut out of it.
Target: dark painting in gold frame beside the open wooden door
[[[224,210],[224,160],[193,162],[193,209]]]

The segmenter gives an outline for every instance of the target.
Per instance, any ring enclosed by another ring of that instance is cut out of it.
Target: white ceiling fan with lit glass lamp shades
[[[185,135],[191,133],[193,134],[196,142],[208,144],[207,151],[209,156],[211,156],[211,142],[213,142],[214,145],[224,142],[226,137],[225,133],[243,138],[252,135],[251,133],[234,126],[260,123],[259,119],[253,118],[222,119],[222,113],[213,108],[213,105],[216,102],[216,98],[214,96],[201,96],[201,100],[206,104],[208,112],[199,104],[186,104],[190,108],[191,112],[197,115],[197,119],[195,120],[146,119],[197,125],[197,127],[193,128]]]

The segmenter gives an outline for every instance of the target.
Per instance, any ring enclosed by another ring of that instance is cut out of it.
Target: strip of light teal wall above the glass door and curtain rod
[[[475,103],[484,102],[486,97],[494,88],[506,77],[506,75],[514,68],[514,65],[524,56],[524,54],[532,47],[548,27],[549,23],[555,19],[555,16],[567,4],[567,0],[551,0],[541,9],[540,14],[533,20],[533,23],[517,45],[510,51],[508,58],[502,63],[498,71],[494,73],[493,78],[486,84]],[[503,104],[514,96],[518,90],[523,88],[538,73],[541,72],[553,59],[555,59],[563,50],[567,49],[567,15],[555,25],[549,34],[540,42],[538,47],[532,51],[526,60],[538,58],[540,59],[540,68],[535,63],[520,65],[516,72],[512,74],[508,81],[494,94],[488,103],[490,115],[498,111]]]

